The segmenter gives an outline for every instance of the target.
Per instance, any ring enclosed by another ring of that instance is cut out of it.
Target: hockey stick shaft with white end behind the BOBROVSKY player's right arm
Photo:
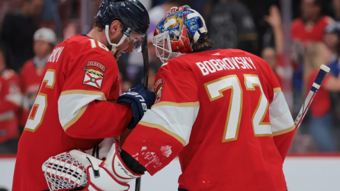
[[[303,103],[298,114],[298,117],[296,117],[295,119],[294,124],[297,129],[300,127],[303,117],[305,117],[309,106],[311,106],[311,101],[313,101],[316,92],[318,92],[318,88],[320,88],[321,83],[323,83],[323,79],[325,78],[328,72],[330,72],[330,68],[325,65],[321,65],[320,70],[318,71],[318,76],[316,76],[313,85],[311,85],[311,90],[309,90],[307,94],[305,103]]]

